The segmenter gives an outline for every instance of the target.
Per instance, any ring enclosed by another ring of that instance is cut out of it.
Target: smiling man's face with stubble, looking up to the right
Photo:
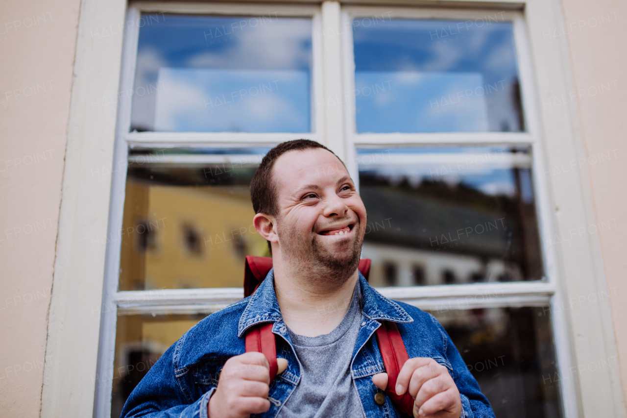
[[[290,151],[275,161],[273,181],[282,255],[347,279],[359,264],[366,208],[339,159],[321,148]]]

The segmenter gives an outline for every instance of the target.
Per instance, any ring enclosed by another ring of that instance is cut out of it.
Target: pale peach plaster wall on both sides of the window
[[[567,42],[627,388],[627,2],[562,0]],[[0,414],[40,411],[79,0],[0,4]],[[616,12],[616,13],[613,13]],[[610,22],[601,21],[609,16]],[[37,24],[34,24],[34,21]],[[596,21],[596,26],[595,25]],[[580,25],[581,22],[584,22]],[[572,26],[570,24],[572,23]],[[602,24],[601,24],[602,23]],[[569,29],[570,28],[570,29]],[[600,85],[610,85],[603,94]],[[565,107],[567,105],[564,105]],[[610,155],[603,163],[594,156]],[[593,164],[594,163],[594,164]],[[569,161],[564,161],[568,166]],[[587,187],[587,185],[583,185]],[[577,225],[575,225],[577,227]],[[617,382],[618,384],[618,382]],[[627,396],[626,396],[627,397]]]

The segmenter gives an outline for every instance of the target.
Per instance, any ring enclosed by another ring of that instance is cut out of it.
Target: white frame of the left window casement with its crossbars
[[[223,3],[155,3],[137,2],[129,5],[126,21],[138,21],[142,13],[211,14],[225,16],[261,16],[272,13],[278,17],[312,18],[312,85],[310,90],[312,132],[292,133],[248,133],[248,132],[130,132],[132,100],[120,100],[115,139],[112,174],[112,198],[107,237],[107,257],[104,277],[100,346],[98,348],[97,376],[115,375],[115,337],[117,316],[136,313],[213,313],[243,297],[241,288],[216,289],[160,289],[159,291],[119,291],[119,265],[122,240],[119,237],[124,218],[125,183],[132,147],[254,147],[274,146],[282,141],[303,137],[322,141],[324,136],[324,114],[315,108],[315,97],[322,95],[322,45],[317,33],[322,31],[320,8],[316,6],[294,6],[264,4]],[[123,46],[123,61],[119,91],[134,89],[135,65],[139,43],[138,25],[127,28]],[[224,163],[227,161],[225,160]],[[120,239],[117,239],[120,238]],[[148,300],[147,300],[148,299]],[[102,384],[101,384],[102,383]],[[97,380],[95,387],[96,417],[110,417],[112,378]]]

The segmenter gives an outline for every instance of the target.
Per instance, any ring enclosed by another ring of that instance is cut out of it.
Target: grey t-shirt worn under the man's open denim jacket
[[[278,417],[364,418],[359,393],[350,374],[361,320],[361,287],[357,281],[349,309],[335,330],[307,337],[288,328],[302,370],[300,382]]]

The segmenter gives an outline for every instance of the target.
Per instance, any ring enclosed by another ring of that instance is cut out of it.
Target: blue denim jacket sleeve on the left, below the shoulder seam
[[[208,418],[209,398],[215,388],[194,402],[182,377],[188,370],[177,370],[174,356],[179,340],[150,368],[131,392],[120,418]]]

